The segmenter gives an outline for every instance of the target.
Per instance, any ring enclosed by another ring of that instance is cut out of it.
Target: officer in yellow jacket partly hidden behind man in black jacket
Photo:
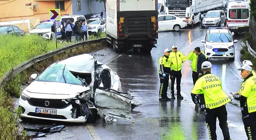
[[[201,50],[201,52],[204,54],[204,52]],[[188,60],[192,60],[191,68],[192,68],[192,79],[193,84],[195,85],[196,80],[198,79],[198,73],[197,73],[197,58],[198,55],[196,55],[195,50],[191,51],[188,55]],[[207,59],[207,57],[205,56]]]

